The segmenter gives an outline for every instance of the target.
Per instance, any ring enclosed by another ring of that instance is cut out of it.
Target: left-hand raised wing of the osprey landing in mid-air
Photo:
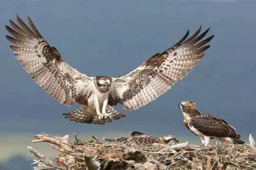
[[[6,29],[13,37],[7,35],[6,38],[19,64],[59,103],[83,104],[93,79],[69,66],[57,49],[41,36],[29,17],[30,27],[19,16],[16,19],[19,26],[10,20],[12,28],[6,26]]]

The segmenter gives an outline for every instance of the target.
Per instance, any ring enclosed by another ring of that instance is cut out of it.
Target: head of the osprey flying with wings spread
[[[104,76],[96,76],[96,87],[100,92],[107,92],[110,90],[112,78]]]

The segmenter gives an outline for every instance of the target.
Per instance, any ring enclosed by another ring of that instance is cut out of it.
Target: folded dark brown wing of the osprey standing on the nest
[[[236,129],[228,125],[221,118],[215,117],[212,114],[194,116],[191,118],[190,125],[194,126],[199,132],[207,136],[233,138],[239,137]]]

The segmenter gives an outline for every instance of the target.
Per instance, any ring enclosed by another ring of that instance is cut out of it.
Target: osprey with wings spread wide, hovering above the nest
[[[19,64],[32,76],[35,83],[45,89],[63,105],[82,106],[63,114],[74,122],[104,124],[124,115],[115,110],[120,103],[132,110],[146,105],[165,93],[184,78],[198,61],[214,36],[202,40],[209,29],[199,35],[201,27],[188,37],[189,32],[172,47],[157,53],[129,74],[121,77],[81,74],[60,56],[57,48],[42,37],[28,17],[28,25],[16,16],[10,20],[6,36]]]

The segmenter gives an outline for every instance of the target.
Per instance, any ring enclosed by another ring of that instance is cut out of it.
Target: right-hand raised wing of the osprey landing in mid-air
[[[210,36],[200,41],[209,29],[199,35],[200,31],[201,27],[186,39],[189,34],[187,31],[185,36],[172,47],[155,54],[129,74],[115,78],[109,103],[116,105],[119,102],[127,110],[138,109],[155,100],[183,79],[198,64],[204,56],[203,52],[210,46],[204,45],[214,37]]]

